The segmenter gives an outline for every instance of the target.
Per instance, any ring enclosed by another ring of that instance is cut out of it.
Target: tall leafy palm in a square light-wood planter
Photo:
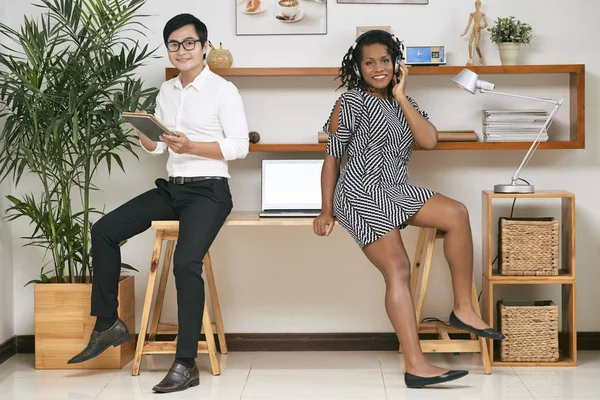
[[[123,170],[120,153],[136,155],[123,111],[152,111],[157,90],[134,71],[153,57],[138,40],[145,0],[40,0],[37,20],[20,30],[0,24],[0,178],[37,189],[7,196],[7,218],[32,225],[26,246],[45,250],[34,283],[36,368],[121,368],[133,340],[87,363],[67,366],[85,347],[93,280],[90,231],[102,214],[90,206],[98,168]],[[35,192],[36,191],[36,192]],[[126,269],[133,269],[123,265]],[[123,276],[119,314],[134,331],[133,276]]]

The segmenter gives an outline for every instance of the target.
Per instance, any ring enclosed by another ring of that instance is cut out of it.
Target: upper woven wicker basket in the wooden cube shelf
[[[554,218],[500,218],[500,274],[558,275],[558,236]]]

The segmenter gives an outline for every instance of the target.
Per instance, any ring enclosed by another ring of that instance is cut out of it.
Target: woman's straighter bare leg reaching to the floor
[[[427,362],[421,351],[413,298],[410,293],[410,261],[402,237],[394,229],[363,252],[381,271],[385,279],[385,309],[402,344],[406,372],[421,377],[433,377],[448,372]]]

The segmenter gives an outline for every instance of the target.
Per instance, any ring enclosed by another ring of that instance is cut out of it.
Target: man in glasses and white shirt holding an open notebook
[[[227,162],[248,154],[248,126],[237,88],[204,65],[206,25],[190,14],[172,18],[163,30],[169,60],[180,74],[160,88],[156,117],[175,136],[155,142],[136,131],[151,154],[169,152],[169,179],[96,222],[92,228],[94,282],[92,315],[96,325],[87,347],[69,363],[101,354],[130,339],[117,315],[121,254],[119,243],[154,220],[179,220],[173,258],[179,332],[175,361],[156,392],[175,392],[199,384],[195,358],[204,310],[202,260],[233,203]]]

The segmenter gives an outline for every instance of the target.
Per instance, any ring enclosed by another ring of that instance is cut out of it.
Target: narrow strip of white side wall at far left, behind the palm
[[[8,3],[0,2],[0,22],[6,22],[5,15]],[[3,39],[0,38],[0,43]],[[0,121],[0,129],[3,123]],[[0,210],[7,206],[6,195],[10,193],[10,184],[0,184]],[[0,211],[0,212],[2,212]],[[0,218],[0,344],[15,334],[14,321],[14,279],[12,227],[9,222]]]

